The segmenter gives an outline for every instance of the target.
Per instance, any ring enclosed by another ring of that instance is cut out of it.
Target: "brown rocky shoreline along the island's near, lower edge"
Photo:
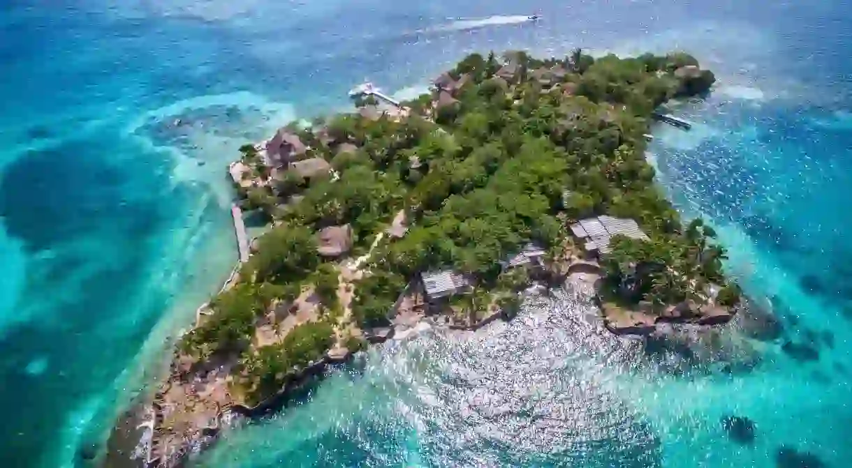
[[[564,271],[566,275],[561,276],[563,286],[568,284],[587,284],[591,287],[600,280],[602,273],[600,266],[596,263],[575,260],[571,262],[561,262],[554,265],[552,273],[556,271]],[[556,273],[555,273],[556,274]],[[606,305],[600,300],[600,296],[595,294],[596,302],[601,311],[602,321],[608,331],[615,335],[637,335],[648,340],[665,340],[665,336],[671,335],[674,339],[682,334],[682,331],[677,328],[672,328],[673,324],[691,324],[700,328],[711,328],[717,325],[722,325],[730,322],[736,315],[737,310],[727,311],[726,313],[707,314],[700,307],[691,309],[694,304],[686,304],[679,306],[671,306],[663,316],[655,317],[649,313],[631,311],[629,316],[613,317],[607,314]],[[401,315],[401,314],[400,314]],[[417,324],[428,322],[431,325],[445,327],[449,330],[474,332],[486,325],[498,320],[510,320],[511,314],[509,311],[498,310],[482,317],[479,321],[471,324],[456,324],[452,322],[435,321],[435,317],[417,315],[416,317],[404,317],[400,320],[394,319],[394,326],[366,329],[363,331],[363,338],[371,345],[382,344],[387,340],[394,339],[394,336],[404,334],[414,328]],[[325,353],[325,356],[316,362],[310,363],[307,367],[292,371],[285,376],[285,385],[280,391],[267,397],[262,402],[258,402],[254,406],[246,406],[239,403],[227,405],[224,408],[218,408],[215,417],[210,420],[209,425],[200,427],[198,431],[193,433],[193,437],[184,437],[178,445],[164,441],[162,424],[164,421],[164,408],[162,401],[164,394],[169,391],[170,385],[161,385],[158,392],[150,399],[150,402],[137,403],[130,410],[124,413],[118,424],[112,431],[108,443],[107,463],[104,466],[119,466],[119,467],[140,467],[146,468],[163,468],[182,466],[187,461],[187,456],[197,454],[206,448],[210,448],[221,434],[221,431],[227,425],[233,424],[237,419],[251,419],[261,417],[264,414],[277,411],[285,407],[286,403],[291,400],[293,393],[308,383],[309,381],[321,378],[325,370],[330,366],[342,365],[351,362],[354,354],[357,351],[350,351],[346,348],[337,348]],[[181,366],[181,355],[175,351],[173,361],[170,366],[170,373],[166,382],[180,380],[179,374]],[[145,440],[145,425],[151,425],[151,437],[148,441]],[[158,447],[167,447],[164,450],[157,450]],[[130,459],[130,454],[147,454],[147,459]]]

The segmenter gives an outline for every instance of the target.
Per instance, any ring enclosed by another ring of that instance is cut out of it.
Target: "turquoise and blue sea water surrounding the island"
[[[538,25],[523,18],[544,14]],[[713,358],[600,333],[570,294],[333,372],[199,465],[826,466],[852,459],[848,3],[11,0],[0,5],[0,466],[75,466],[235,260],[246,140],[414,94],[470,51],[688,49],[717,71],[658,128],[659,180],[785,325]],[[180,125],[174,125],[181,119]],[[730,335],[730,336],[728,336]],[[784,345],[786,342],[792,345]],[[802,350],[806,351],[802,351]],[[719,420],[753,419],[738,445]],[[813,465],[813,462],[811,462]]]

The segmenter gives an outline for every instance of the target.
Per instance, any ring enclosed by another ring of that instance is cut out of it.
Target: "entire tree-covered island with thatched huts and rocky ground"
[[[730,320],[724,249],[644,157],[654,111],[714,82],[684,53],[471,54],[416,100],[354,93],[356,113],[242,146],[229,172],[267,231],[174,351],[147,465],[423,317],[509,319],[533,280],[585,283],[616,334]]]

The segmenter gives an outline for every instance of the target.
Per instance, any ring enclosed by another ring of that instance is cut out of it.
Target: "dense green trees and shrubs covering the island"
[[[316,233],[351,225],[348,255],[365,254],[400,210],[406,235],[378,243],[370,274],[356,284],[352,312],[361,328],[387,323],[417,273],[447,267],[474,278],[470,304],[496,300],[515,309],[527,278],[503,272],[499,260],[531,241],[556,248],[567,222],[594,214],[633,218],[651,237],[615,239],[604,259],[607,284],[625,300],[662,304],[710,283],[725,286],[715,234],[699,221],[683,228],[644,158],[653,109],[704,93],[715,81],[697,60],[680,53],[595,60],[580,50],[550,60],[471,54],[450,76],[463,84],[404,103],[410,117],[338,115],[313,128],[291,126],[308,146],[301,157],[325,159],[330,174],[276,172],[253,146],[240,148],[260,181],[239,189],[243,206],[262,210],[275,227],[257,242],[239,286],[217,297],[216,313],[187,335],[186,350],[241,351],[251,395],[277,388],[288,369],[332,345],[331,320],[300,325],[282,343],[254,349],[248,337],[256,318],[294,300],[306,284],[336,310],[337,264],[317,254]],[[738,290],[725,286],[719,297],[734,304]]]

